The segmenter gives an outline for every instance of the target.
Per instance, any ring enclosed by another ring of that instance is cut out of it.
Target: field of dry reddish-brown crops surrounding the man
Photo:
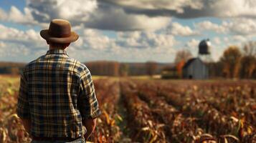
[[[103,114],[90,142],[256,142],[255,81],[97,78]],[[19,77],[0,77],[0,142],[30,142]]]

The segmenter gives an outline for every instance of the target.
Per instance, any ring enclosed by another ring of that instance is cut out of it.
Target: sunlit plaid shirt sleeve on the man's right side
[[[77,104],[82,115],[82,119],[94,119],[101,114],[95,94],[93,79],[87,68],[82,71],[80,77],[80,92]]]

